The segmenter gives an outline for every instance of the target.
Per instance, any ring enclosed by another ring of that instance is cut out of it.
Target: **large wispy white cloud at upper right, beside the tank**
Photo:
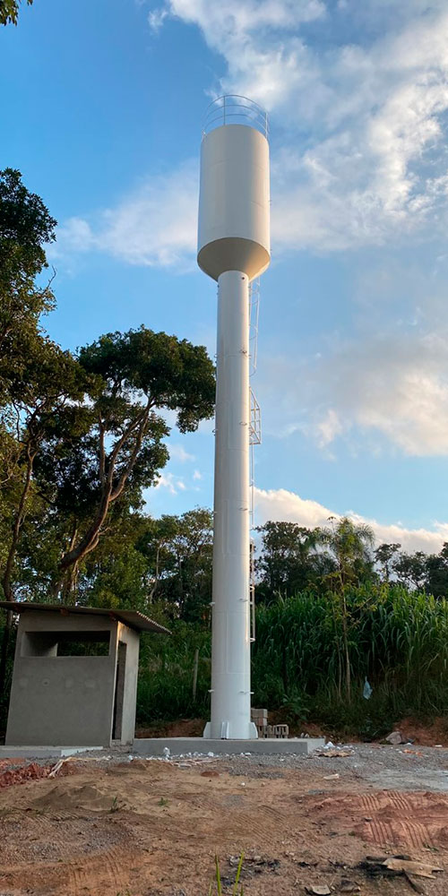
[[[277,251],[381,245],[429,224],[444,228],[442,0],[430,9],[418,0],[336,8],[320,0],[167,0],[163,13],[195,24],[224,56],[216,92],[271,110]]]

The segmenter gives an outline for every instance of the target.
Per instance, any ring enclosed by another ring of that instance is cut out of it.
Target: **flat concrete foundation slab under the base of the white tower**
[[[207,737],[137,737],[132,752],[138,756],[163,756],[168,748],[172,756],[187,753],[215,755],[251,753],[253,755],[307,755],[325,745],[323,737],[260,737],[258,740],[214,740]]]

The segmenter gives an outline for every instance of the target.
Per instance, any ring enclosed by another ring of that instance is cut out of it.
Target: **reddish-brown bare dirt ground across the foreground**
[[[5,780],[0,896],[207,896],[215,854],[231,892],[241,851],[246,896],[325,884],[350,892],[349,883],[361,896],[418,892],[403,877],[371,880],[357,867],[397,853],[444,869],[434,881],[414,878],[419,892],[448,892],[447,750],[123,758]]]

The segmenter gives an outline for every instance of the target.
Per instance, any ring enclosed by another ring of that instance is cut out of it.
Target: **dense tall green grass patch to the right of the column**
[[[368,734],[402,715],[448,715],[447,668],[446,599],[371,584],[343,599],[304,591],[257,612],[256,699],[289,719]]]

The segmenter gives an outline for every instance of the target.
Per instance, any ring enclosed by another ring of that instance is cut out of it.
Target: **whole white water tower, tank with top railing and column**
[[[204,737],[257,737],[251,721],[249,284],[270,263],[267,116],[221,97],[202,134],[197,261],[218,281],[211,721]]]

